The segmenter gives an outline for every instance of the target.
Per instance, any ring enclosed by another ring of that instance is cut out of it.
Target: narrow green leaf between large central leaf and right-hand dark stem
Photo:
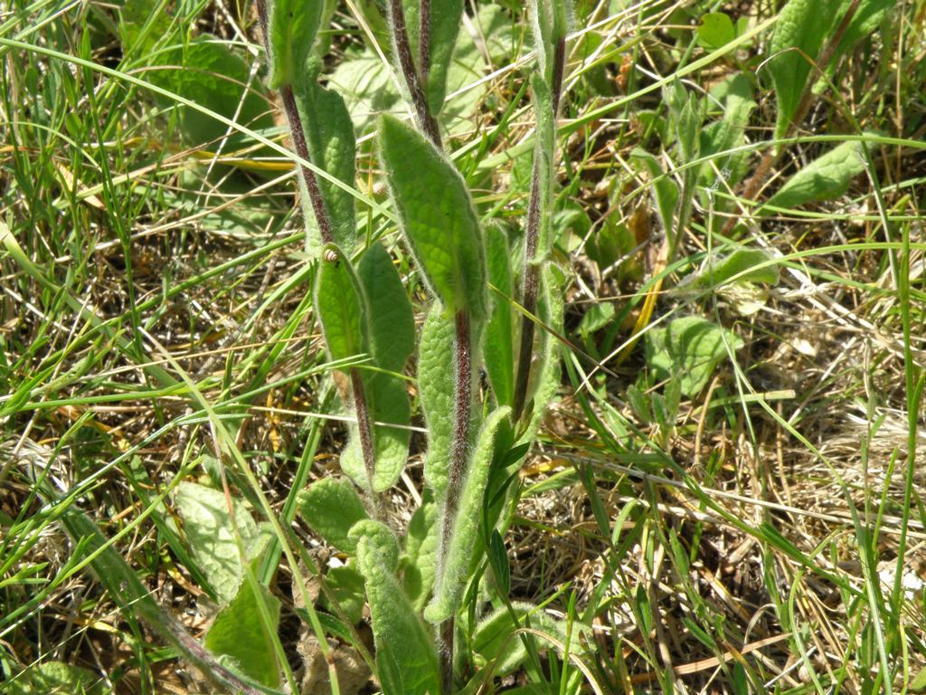
[[[505,230],[496,225],[485,231],[489,282],[506,297],[514,294],[514,278]],[[514,329],[507,299],[492,296],[492,313],[485,326],[482,360],[498,405],[511,405],[514,399]]]

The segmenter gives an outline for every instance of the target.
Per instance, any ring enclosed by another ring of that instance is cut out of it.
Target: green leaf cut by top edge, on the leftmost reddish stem
[[[319,32],[324,3],[317,0],[272,0],[269,16],[270,78],[273,89],[293,84]]]

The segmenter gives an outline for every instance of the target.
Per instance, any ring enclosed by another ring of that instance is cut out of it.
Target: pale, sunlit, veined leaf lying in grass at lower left
[[[232,524],[228,499],[220,490],[183,482],[175,501],[194,560],[209,577],[216,600],[225,605],[238,593],[244,577],[244,563],[235,541],[235,528],[244,546],[244,562],[257,557],[267,538],[244,504],[236,499],[232,499]]]

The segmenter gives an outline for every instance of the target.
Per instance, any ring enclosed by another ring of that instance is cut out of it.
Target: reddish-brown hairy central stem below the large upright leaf
[[[454,523],[457,520],[460,494],[466,477],[469,459],[469,411],[472,405],[472,337],[469,313],[457,311],[456,382],[457,403],[454,409],[454,438],[450,449],[450,472],[447,479],[447,497],[444,500],[444,519],[441,528],[441,549],[438,566],[445,568],[450,552]],[[441,683],[444,695],[453,692],[454,682],[454,618],[447,618],[439,627],[441,639]]]

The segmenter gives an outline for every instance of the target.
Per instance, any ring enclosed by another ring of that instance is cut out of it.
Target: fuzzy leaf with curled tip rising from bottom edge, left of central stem
[[[366,580],[383,693],[440,692],[432,640],[395,578],[399,550],[392,531],[368,520],[351,529],[351,537],[357,543],[357,565]]]

